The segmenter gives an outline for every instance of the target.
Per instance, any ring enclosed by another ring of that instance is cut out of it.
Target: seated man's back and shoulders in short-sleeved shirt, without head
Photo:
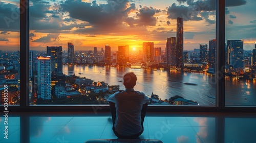
[[[125,89],[125,91],[113,94],[108,102],[115,103],[116,122],[114,127],[120,135],[130,136],[142,131],[142,106],[150,102],[144,93],[134,91],[133,88]]]

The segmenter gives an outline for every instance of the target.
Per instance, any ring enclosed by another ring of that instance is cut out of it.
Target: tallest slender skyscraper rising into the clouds
[[[176,67],[183,69],[183,18],[177,18]]]

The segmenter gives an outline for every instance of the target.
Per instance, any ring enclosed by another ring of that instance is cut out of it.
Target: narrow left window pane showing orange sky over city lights
[[[19,105],[19,1],[0,1],[0,105]]]

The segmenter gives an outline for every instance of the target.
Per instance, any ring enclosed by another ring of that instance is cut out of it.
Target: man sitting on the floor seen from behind
[[[133,72],[125,74],[125,90],[114,93],[107,100],[110,103],[112,129],[119,138],[137,138],[144,131],[143,122],[150,100],[144,93],[134,90],[136,81]]]

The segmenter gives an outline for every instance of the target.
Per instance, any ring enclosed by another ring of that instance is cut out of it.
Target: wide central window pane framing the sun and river
[[[216,105],[208,1],[30,1],[30,105],[107,104],[137,75],[152,105]]]

